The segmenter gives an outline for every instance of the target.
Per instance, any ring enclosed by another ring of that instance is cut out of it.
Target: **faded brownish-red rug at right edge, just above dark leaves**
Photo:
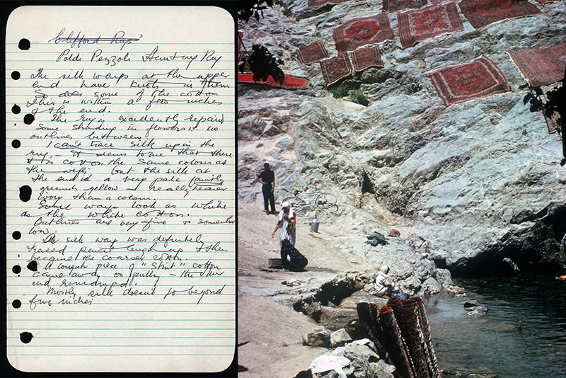
[[[544,49],[524,49],[508,54],[530,86],[543,86],[562,80],[566,67],[566,42]]]

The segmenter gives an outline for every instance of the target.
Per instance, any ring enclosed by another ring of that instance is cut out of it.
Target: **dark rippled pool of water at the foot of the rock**
[[[538,275],[454,283],[466,297],[425,299],[441,369],[499,378],[566,377],[566,282]],[[466,300],[489,311],[469,318]]]

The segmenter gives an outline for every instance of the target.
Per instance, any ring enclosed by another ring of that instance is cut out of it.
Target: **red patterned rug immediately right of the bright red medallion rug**
[[[399,38],[403,48],[436,37],[437,35],[463,30],[464,26],[456,4],[448,3],[417,11],[397,13]]]

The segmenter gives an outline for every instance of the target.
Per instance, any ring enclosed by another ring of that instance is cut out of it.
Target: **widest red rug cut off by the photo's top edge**
[[[463,0],[458,6],[476,29],[507,18],[541,13],[536,6],[526,0]]]

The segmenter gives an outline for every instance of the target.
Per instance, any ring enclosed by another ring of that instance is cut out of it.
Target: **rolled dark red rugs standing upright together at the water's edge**
[[[389,299],[386,306],[362,302],[359,319],[347,324],[353,340],[369,338],[388,357],[401,378],[439,378],[430,326],[420,297]]]

